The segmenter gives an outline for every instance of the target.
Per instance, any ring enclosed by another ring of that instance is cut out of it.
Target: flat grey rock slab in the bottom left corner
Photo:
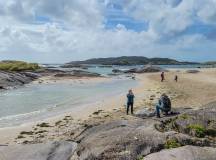
[[[0,146],[2,160],[69,160],[77,147],[73,142]]]

